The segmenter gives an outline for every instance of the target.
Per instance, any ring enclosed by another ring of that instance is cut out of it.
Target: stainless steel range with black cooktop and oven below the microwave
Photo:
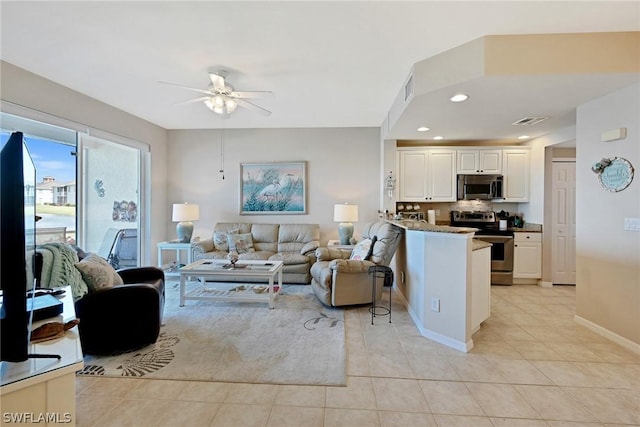
[[[491,243],[491,284],[513,284],[513,231],[499,229],[495,212],[452,211],[451,225],[478,228],[475,238]]]

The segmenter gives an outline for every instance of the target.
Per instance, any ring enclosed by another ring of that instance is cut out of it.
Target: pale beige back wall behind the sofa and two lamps
[[[357,204],[355,234],[378,219],[381,151],[379,128],[226,129],[224,175],[220,169],[220,130],[171,130],[168,144],[168,201],[197,203],[194,236],[210,238],[219,221],[317,223],[321,240],[337,239],[333,205]],[[307,214],[240,215],[240,163],[307,162]],[[166,233],[175,237],[175,225]]]

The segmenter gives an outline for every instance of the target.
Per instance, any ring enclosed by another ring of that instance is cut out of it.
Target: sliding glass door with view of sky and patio
[[[72,122],[55,126],[49,122],[62,120],[22,112],[37,119],[0,112],[0,144],[22,132],[34,158],[36,215],[42,217],[36,242],[76,244],[114,267],[148,264],[149,146],[98,130],[90,136]]]

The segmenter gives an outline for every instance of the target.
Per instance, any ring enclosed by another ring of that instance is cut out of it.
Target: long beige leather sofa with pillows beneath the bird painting
[[[250,247],[242,250],[249,241]],[[236,242],[239,242],[237,252],[240,260],[282,261],[284,283],[309,284],[310,269],[316,261],[315,251],[320,244],[320,226],[219,222],[210,239],[192,244],[193,260],[226,259],[229,243],[233,245]]]

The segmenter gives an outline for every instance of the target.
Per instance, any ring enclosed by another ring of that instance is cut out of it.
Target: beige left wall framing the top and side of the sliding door
[[[145,230],[145,247],[149,250],[143,253],[142,262],[155,264],[155,244],[166,239],[166,223],[170,219],[166,216],[166,130],[7,62],[1,61],[0,67],[3,111],[15,106],[25,107],[23,110],[27,112],[27,118],[33,118],[28,117],[29,111],[36,115],[41,112],[52,116],[53,119],[77,124],[74,130],[100,130],[150,146],[151,194],[148,196],[153,215],[150,215],[150,225]],[[51,124],[60,123],[57,121]]]

